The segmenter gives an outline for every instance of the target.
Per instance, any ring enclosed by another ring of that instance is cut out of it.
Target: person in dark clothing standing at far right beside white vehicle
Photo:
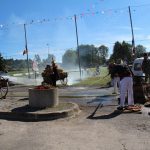
[[[144,53],[144,60],[142,62],[142,71],[145,73],[145,82],[150,83],[150,59],[148,54]]]

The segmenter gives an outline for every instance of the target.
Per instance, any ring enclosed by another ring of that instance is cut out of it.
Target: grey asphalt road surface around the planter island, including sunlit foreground
[[[28,88],[12,87],[6,101],[26,98]],[[61,88],[60,101],[78,103],[81,113],[54,121],[1,119],[0,150],[149,150],[149,116],[116,112],[117,100],[111,93],[111,88]],[[91,117],[100,102],[104,107]]]

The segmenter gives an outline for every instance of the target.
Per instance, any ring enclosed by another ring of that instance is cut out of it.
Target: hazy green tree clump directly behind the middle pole
[[[108,47],[101,45],[79,45],[78,50],[67,50],[63,55],[63,65],[78,65],[79,59],[81,67],[95,67],[106,62]]]

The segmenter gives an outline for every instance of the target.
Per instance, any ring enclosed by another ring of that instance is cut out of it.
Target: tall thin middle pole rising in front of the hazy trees
[[[77,53],[78,53],[78,63],[79,63],[80,80],[81,80],[81,63],[80,63],[80,52],[79,52],[78,28],[77,28],[77,19],[76,19],[76,15],[74,15],[74,20],[75,20],[75,28],[76,28]]]

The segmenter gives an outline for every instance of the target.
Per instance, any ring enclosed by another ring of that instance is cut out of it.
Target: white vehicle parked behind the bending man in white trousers
[[[135,76],[145,76],[145,74],[142,71],[142,63],[144,58],[136,58],[132,65],[132,72]]]

